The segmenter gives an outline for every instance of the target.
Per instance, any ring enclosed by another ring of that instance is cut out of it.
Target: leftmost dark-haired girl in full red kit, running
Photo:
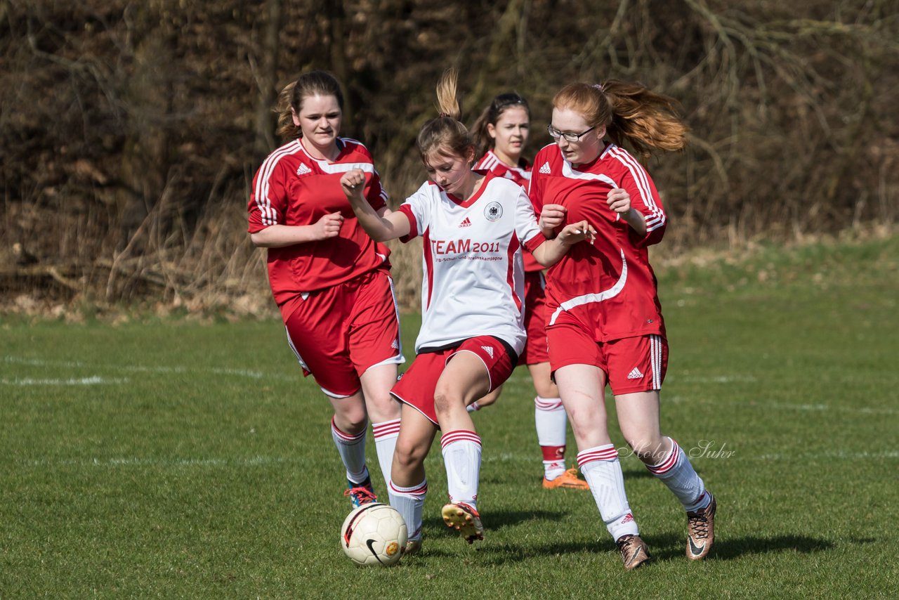
[[[271,292],[288,343],[334,407],[331,433],[353,506],[375,499],[365,462],[370,419],[378,462],[390,480],[399,404],[389,390],[403,362],[389,251],[371,241],[343,195],[340,178],[360,168],[373,210],[387,210],[367,148],[338,134],[343,94],[334,76],[313,71],[280,94],[279,134],[289,142],[254,177],[250,238],[268,248]]]

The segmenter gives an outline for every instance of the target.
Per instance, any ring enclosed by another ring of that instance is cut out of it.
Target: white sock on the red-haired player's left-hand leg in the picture
[[[578,452],[577,463],[612,539],[618,542],[623,535],[639,535],[628,505],[624,474],[615,445],[609,443]]]

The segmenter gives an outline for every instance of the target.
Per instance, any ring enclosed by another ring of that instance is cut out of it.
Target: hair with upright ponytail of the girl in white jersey
[[[437,108],[440,115],[424,123],[422,129],[418,131],[416,142],[423,162],[433,152],[463,158],[467,158],[469,151],[472,156],[475,153],[471,136],[468,135],[465,125],[459,121],[462,118],[462,110],[459,107],[457,86],[458,72],[455,68],[448,68],[437,84]],[[474,160],[474,157],[471,160]]]

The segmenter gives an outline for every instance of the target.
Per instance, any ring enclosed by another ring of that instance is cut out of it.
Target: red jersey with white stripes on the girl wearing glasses
[[[640,237],[607,198],[613,188],[630,194],[646,221]],[[646,246],[662,240],[667,219],[653,180],[624,148],[608,145],[592,163],[576,168],[556,144],[534,159],[529,195],[535,207],[561,204],[567,222],[586,219],[596,228],[591,244],[571,246],[547,272],[547,327],[575,323],[597,342],[664,336],[662,308]]]

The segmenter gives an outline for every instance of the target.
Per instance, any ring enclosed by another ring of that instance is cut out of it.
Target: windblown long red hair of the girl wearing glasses
[[[605,125],[613,142],[620,146],[627,141],[641,157],[687,145],[689,128],[678,106],[670,96],[618,79],[602,85],[565,85],[553,97],[554,108],[578,112],[591,127]]]

